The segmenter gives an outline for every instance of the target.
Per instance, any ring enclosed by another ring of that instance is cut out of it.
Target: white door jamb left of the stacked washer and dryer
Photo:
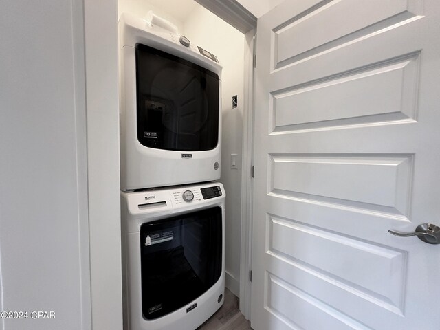
[[[81,14],[87,124],[88,294],[91,296],[91,325],[85,329],[120,330],[118,1],[84,0]]]

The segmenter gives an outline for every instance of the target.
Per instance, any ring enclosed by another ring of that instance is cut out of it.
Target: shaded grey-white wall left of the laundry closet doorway
[[[29,313],[4,330],[91,325],[82,5],[1,3],[0,311]]]

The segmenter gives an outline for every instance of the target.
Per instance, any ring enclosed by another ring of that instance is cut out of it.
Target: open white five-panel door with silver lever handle
[[[252,327],[438,330],[440,4],[285,1],[259,19]]]

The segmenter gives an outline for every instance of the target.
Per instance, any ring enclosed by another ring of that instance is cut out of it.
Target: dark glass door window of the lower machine
[[[142,314],[164,316],[201,296],[221,275],[221,208],[140,228]]]

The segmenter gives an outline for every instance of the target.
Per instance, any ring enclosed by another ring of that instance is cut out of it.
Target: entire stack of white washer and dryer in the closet
[[[223,304],[221,66],[153,14],[122,14],[124,329],[194,330]]]

